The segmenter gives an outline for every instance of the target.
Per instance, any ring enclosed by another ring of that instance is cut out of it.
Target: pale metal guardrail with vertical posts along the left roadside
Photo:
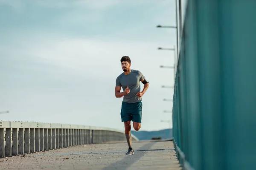
[[[132,140],[138,141],[133,135]],[[0,158],[111,141],[126,141],[124,132],[84,125],[0,121]]]

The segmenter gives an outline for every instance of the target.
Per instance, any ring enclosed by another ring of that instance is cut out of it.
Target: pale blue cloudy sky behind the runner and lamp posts
[[[120,59],[150,82],[141,130],[169,127],[175,0],[0,0],[0,120],[124,130]],[[143,84],[141,84],[141,91]],[[133,128],[132,128],[133,129]]]

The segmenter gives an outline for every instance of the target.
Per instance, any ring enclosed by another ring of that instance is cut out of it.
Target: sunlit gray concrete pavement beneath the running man
[[[90,144],[0,159],[1,170],[181,170],[172,141]]]

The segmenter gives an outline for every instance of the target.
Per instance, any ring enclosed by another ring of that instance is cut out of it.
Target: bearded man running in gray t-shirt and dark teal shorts
[[[125,137],[128,143],[128,152],[126,155],[133,155],[134,150],[131,147],[131,121],[133,121],[134,130],[138,131],[141,127],[142,102],[141,97],[148,89],[149,82],[138,70],[131,69],[131,59],[128,56],[121,58],[123,73],[116,78],[115,95],[117,98],[123,97],[121,108],[121,120],[125,125]],[[144,84],[143,91],[140,91],[140,82]],[[120,92],[121,87],[123,92]]]

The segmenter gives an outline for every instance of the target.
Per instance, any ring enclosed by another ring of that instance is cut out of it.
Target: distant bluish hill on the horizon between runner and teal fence
[[[163,130],[158,130],[158,131],[131,130],[131,134],[136,136],[139,140],[151,140],[152,138],[157,138],[157,137],[161,137],[161,139],[170,139],[173,137],[172,129],[163,129]]]

